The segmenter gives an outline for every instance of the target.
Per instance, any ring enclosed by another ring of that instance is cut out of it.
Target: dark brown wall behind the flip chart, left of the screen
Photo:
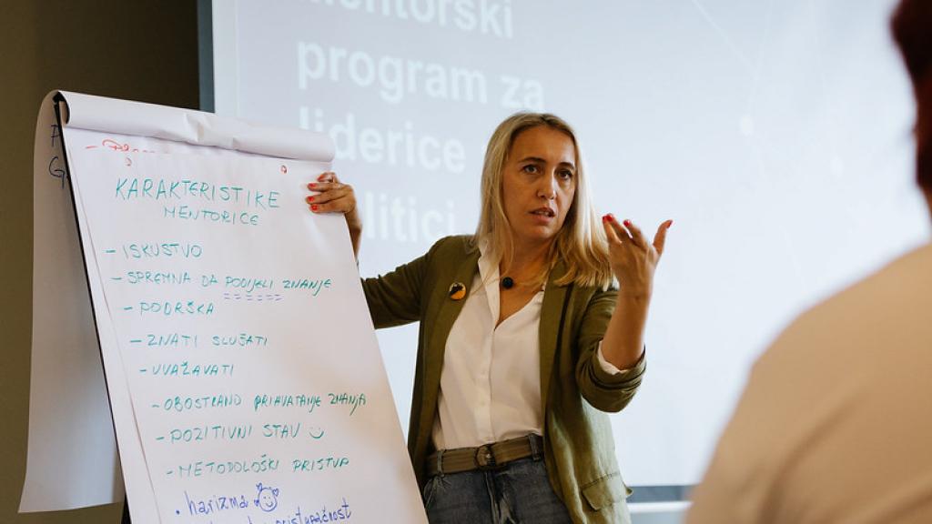
[[[197,108],[197,0],[2,0],[0,71],[0,522],[119,522],[119,504],[17,514],[29,414],[35,117],[53,89]]]

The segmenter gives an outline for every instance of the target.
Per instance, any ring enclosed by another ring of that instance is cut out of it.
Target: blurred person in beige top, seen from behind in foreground
[[[932,0],[901,2],[892,29],[932,208]],[[763,354],[686,522],[932,522],[930,375],[926,243],[803,314]]]

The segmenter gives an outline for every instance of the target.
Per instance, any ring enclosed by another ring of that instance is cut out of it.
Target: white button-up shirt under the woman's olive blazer
[[[479,272],[446,338],[433,443],[473,448],[526,434],[543,434],[541,340],[543,290],[521,310],[499,319],[499,266],[480,245]],[[610,373],[620,372],[602,356]]]

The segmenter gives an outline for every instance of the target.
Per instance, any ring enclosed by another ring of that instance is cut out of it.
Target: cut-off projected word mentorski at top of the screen
[[[514,35],[511,0],[310,0],[403,21],[455,27],[500,38]]]

